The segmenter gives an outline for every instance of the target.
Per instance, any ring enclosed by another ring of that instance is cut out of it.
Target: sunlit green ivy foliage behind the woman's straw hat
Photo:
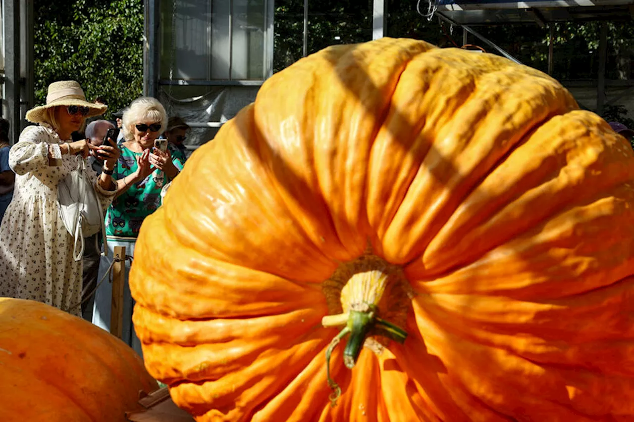
[[[143,1],[35,0],[36,104],[48,85],[77,80],[107,118],[143,91]]]

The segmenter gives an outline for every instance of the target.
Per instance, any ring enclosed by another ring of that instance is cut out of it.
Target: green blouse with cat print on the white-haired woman
[[[135,153],[124,144],[119,144],[121,155],[112,175],[119,180],[129,176],[138,167],[136,158],[141,153]],[[167,144],[172,162],[178,170],[183,169],[185,157],[178,148]],[[169,183],[169,177],[160,170],[154,170],[145,180],[134,183],[127,191],[112,201],[106,214],[106,234],[120,238],[136,238],[141,229],[143,219],[159,208],[160,191],[164,184]]]

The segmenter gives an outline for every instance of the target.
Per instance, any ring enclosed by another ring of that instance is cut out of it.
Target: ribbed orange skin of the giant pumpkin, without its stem
[[[633,151],[547,75],[333,46],[188,160],[141,228],[134,324],[198,421],[634,421],[633,221]],[[335,348],[331,407],[325,281],[368,245],[409,336],[352,370]]]

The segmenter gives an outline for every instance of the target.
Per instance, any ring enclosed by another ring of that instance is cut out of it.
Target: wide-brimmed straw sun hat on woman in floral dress
[[[37,106],[27,112],[27,120],[33,123],[44,123],[44,110],[55,106],[76,105],[87,107],[86,117],[98,116],[105,113],[108,106],[99,103],[89,103],[86,101],[84,90],[78,82],[74,80],[60,80],[48,86],[46,95],[46,105]]]

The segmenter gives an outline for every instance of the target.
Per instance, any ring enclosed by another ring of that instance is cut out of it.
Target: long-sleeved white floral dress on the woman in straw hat
[[[73,238],[61,222],[58,182],[77,165],[61,155],[58,134],[48,125],[29,126],[9,153],[16,173],[13,200],[0,225],[0,296],[37,300],[81,315],[82,262],[73,259]],[[48,151],[56,158],[49,165]],[[101,206],[112,202],[114,191],[96,184]],[[77,306],[75,306],[77,305]]]

